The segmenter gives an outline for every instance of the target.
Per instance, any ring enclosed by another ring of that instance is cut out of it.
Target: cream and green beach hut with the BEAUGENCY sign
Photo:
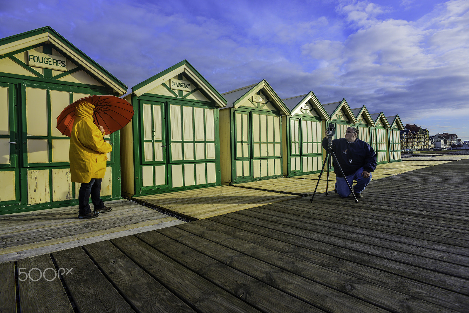
[[[218,108],[226,100],[187,61],[132,87],[121,130],[122,194],[220,185]]]

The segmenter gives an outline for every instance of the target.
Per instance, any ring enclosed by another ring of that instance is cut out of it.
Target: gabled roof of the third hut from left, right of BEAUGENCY
[[[280,99],[280,97],[265,79],[258,82],[257,84],[242,87],[240,89],[234,89],[225,92],[222,95],[223,97],[225,97],[225,99],[227,99],[227,107],[236,107],[237,104],[241,103],[243,100],[249,97],[252,97],[261,89],[265,92],[265,94],[267,94],[270,99],[272,99],[273,105],[275,105],[279,109],[279,112],[282,115],[290,115],[290,110],[287,108],[287,106],[283,103],[283,101]]]

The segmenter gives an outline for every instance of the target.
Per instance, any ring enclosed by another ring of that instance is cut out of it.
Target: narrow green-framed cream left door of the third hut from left
[[[236,167],[236,178],[252,179],[251,171],[251,147],[250,140],[250,113],[234,111],[235,127],[234,134],[234,159]]]

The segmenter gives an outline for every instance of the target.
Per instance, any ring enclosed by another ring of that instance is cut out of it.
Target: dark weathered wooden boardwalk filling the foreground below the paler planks
[[[318,194],[0,263],[0,311],[465,313],[468,179],[454,161],[359,203]]]

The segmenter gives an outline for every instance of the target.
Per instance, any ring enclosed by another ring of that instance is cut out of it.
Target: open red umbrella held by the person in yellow
[[[112,134],[126,126],[134,116],[133,106],[125,99],[107,95],[81,98],[68,105],[57,117],[57,129],[68,137],[72,134],[73,122],[75,121],[75,106],[82,101],[95,106],[94,123],[101,125],[106,134]]]

